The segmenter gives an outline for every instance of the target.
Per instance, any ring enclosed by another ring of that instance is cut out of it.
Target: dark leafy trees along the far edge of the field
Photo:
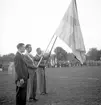
[[[0,64],[3,62],[13,62],[14,57],[15,54],[13,53],[0,56]],[[50,57],[56,57],[57,61],[68,61],[75,59],[73,53],[68,53],[62,47],[56,47],[54,49],[54,54],[51,54]],[[98,50],[97,48],[89,49],[89,51],[86,53],[86,60],[101,60],[101,50]]]

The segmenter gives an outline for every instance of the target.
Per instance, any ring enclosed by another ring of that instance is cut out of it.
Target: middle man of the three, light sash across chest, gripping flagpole
[[[27,100],[28,101],[37,101],[36,99],[36,89],[37,89],[37,75],[36,75],[36,66],[34,64],[34,57],[31,55],[32,47],[30,44],[25,46],[26,54],[25,61],[27,65],[30,65],[35,68],[28,67],[29,79],[27,84]]]

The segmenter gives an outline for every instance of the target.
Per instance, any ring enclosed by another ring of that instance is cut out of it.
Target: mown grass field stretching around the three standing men
[[[27,105],[101,105],[101,67],[46,69],[46,96]],[[14,78],[0,72],[0,105],[15,105]]]

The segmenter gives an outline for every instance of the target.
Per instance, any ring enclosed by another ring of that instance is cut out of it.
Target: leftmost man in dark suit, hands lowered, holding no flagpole
[[[27,64],[23,59],[25,46],[23,43],[17,45],[17,53],[14,58],[16,73],[16,105],[26,105],[27,80],[29,77]]]

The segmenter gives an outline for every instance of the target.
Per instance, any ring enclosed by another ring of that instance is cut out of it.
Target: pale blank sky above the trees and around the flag
[[[76,0],[85,48],[101,49],[101,0]],[[0,0],[0,54],[15,53],[19,42],[46,49],[71,0]],[[58,39],[55,47],[68,46]]]

